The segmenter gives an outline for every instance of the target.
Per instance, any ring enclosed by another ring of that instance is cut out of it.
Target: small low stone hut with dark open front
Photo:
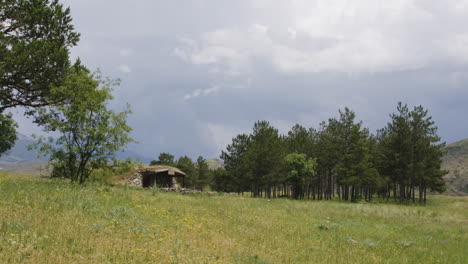
[[[179,189],[184,186],[185,173],[171,166],[155,165],[137,169],[127,180],[130,186]]]

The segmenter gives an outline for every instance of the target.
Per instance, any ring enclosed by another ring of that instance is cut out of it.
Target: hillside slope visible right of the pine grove
[[[442,167],[449,170],[444,176],[447,183],[447,193],[468,194],[468,138],[445,147],[447,155]]]

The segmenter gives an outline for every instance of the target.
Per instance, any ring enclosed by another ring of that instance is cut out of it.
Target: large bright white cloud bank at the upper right
[[[296,0],[289,6],[253,0],[252,6],[284,8],[285,24],[271,21],[205,32],[181,42],[175,53],[223,72],[248,72],[261,58],[276,70],[374,73],[419,69],[440,61],[468,63],[468,5],[438,1]]]

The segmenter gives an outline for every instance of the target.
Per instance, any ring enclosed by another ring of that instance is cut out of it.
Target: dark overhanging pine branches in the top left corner
[[[0,111],[64,99],[51,89],[65,81],[69,49],[79,40],[71,22],[56,0],[0,2]]]

